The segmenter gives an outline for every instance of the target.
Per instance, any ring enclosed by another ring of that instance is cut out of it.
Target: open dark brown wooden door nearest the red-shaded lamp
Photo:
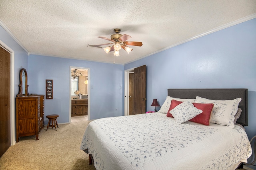
[[[134,114],[146,113],[146,65],[134,69]]]

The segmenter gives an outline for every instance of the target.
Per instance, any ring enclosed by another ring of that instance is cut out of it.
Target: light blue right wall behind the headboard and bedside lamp
[[[168,88],[248,88],[246,132],[256,135],[256,19],[125,64],[124,70],[144,64],[147,110],[154,109],[153,99],[162,106]]]

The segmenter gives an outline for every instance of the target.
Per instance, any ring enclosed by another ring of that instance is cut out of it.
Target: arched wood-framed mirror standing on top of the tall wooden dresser
[[[25,68],[22,68],[20,70],[20,84],[19,84],[19,93],[17,94],[17,97],[19,96],[28,96],[28,74]]]

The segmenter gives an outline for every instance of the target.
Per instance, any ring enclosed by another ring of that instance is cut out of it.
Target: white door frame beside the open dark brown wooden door
[[[134,67],[136,68],[136,67]],[[134,70],[134,68],[130,68],[128,70],[124,70],[124,115],[129,115],[129,73]]]

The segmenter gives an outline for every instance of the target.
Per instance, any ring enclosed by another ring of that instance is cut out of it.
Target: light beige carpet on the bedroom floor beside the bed
[[[0,158],[0,170],[96,170],[89,155],[80,150],[87,116],[72,117],[71,123],[48,129],[36,136],[21,137]],[[58,119],[57,119],[58,121]]]

